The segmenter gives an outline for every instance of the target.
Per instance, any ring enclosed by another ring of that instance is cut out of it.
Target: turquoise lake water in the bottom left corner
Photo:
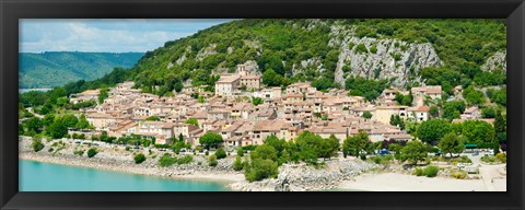
[[[228,191],[224,183],[178,180],[19,160],[20,191]]]

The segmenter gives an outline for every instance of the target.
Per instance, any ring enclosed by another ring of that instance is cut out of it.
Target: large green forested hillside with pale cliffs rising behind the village
[[[268,85],[312,81],[324,90],[358,77],[404,89],[441,84],[447,92],[504,84],[505,48],[505,20],[238,20],[167,42],[110,77],[164,95],[185,82],[213,84],[213,73],[247,63]]]

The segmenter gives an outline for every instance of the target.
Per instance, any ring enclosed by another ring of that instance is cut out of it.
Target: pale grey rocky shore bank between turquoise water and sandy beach
[[[334,159],[324,168],[306,164],[284,164],[279,167],[278,178],[260,182],[237,182],[229,187],[240,191],[314,191],[335,188],[342,180],[380,167],[355,159]]]

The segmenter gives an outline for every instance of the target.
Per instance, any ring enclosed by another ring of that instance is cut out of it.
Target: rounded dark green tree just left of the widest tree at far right
[[[418,126],[418,138],[427,143],[435,143],[451,132],[451,125],[444,119],[430,119]]]

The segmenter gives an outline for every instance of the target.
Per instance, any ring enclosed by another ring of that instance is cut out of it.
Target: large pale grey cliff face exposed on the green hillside
[[[341,42],[335,82],[345,86],[346,78],[358,75],[392,79],[392,85],[404,86],[409,81],[420,82],[417,77],[420,69],[439,66],[442,61],[429,43],[408,44],[398,39],[347,36]]]

